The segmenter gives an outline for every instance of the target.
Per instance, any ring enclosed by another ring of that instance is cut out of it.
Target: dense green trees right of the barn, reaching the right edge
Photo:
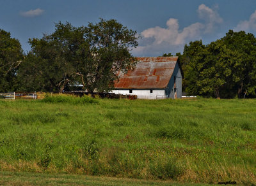
[[[183,54],[177,55],[184,72],[182,89],[188,95],[256,97],[256,38],[253,34],[230,30],[225,37],[209,45],[204,45],[202,40],[190,42],[185,45]]]

